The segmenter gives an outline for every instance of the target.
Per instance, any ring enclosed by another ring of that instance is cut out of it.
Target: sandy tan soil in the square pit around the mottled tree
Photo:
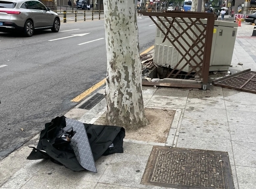
[[[145,114],[148,125],[136,131],[125,131],[125,139],[166,143],[175,110],[145,108]],[[106,112],[94,124],[106,125]]]

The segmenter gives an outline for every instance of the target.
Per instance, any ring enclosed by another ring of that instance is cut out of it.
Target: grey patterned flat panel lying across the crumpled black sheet
[[[76,131],[71,139],[71,145],[79,164],[86,170],[97,172],[92,149],[83,123],[66,118],[66,125],[72,126],[73,130]]]

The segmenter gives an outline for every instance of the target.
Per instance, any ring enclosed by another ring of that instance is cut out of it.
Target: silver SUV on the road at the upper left
[[[58,32],[58,14],[38,0],[0,0],[0,32],[22,31],[31,37],[39,29]]]

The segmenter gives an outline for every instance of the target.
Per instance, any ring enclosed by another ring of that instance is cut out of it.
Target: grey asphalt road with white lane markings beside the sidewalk
[[[142,52],[154,45],[156,26],[148,17],[137,20]],[[0,33],[0,159],[106,77],[104,37],[104,20],[65,23],[59,33],[40,31],[32,37]]]

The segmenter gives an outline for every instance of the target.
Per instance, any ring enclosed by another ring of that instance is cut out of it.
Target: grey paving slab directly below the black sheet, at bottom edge
[[[112,155],[102,156],[96,161],[98,173],[90,172],[87,170],[74,172],[68,168],[65,168],[64,166],[54,164],[53,162],[48,162],[39,172],[37,172],[37,174],[35,174],[34,177],[29,180],[26,185],[24,185],[23,188],[35,189],[33,186],[36,186],[37,183],[40,183],[40,187],[38,187],[38,189],[55,189],[55,187],[57,189],[63,189],[68,187],[68,184],[70,184],[70,187],[73,186],[73,188],[80,189],[81,187],[82,189],[92,189],[108,167],[111,159]],[[76,185],[76,183],[78,185]]]

